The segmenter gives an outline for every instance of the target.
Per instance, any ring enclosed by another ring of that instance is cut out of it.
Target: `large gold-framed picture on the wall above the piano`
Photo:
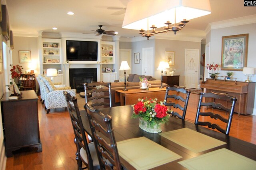
[[[242,71],[247,66],[248,36],[222,37],[221,70]]]

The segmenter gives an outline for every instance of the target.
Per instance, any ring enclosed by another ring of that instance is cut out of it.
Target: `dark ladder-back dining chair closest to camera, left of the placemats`
[[[88,103],[84,105],[84,108],[87,112],[92,131],[92,138],[98,154],[100,169],[121,170],[122,166],[114,136],[114,129],[112,128],[112,117],[104,115],[99,110],[92,108]],[[106,141],[109,141],[109,143]]]

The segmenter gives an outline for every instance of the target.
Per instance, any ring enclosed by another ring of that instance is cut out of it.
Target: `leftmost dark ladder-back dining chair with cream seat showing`
[[[100,164],[94,142],[88,143],[86,139],[84,126],[77,104],[77,98],[75,96],[71,96],[67,91],[64,91],[63,94],[66,98],[68,111],[74,130],[74,143],[76,144],[76,160],[78,169],[82,170],[82,163],[84,163],[89,170],[99,169]]]

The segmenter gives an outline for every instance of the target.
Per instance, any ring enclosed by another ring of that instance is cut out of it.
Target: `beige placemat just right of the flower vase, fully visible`
[[[226,142],[222,142],[188,128],[172,130],[170,132],[160,133],[160,135],[195,153],[226,144]]]

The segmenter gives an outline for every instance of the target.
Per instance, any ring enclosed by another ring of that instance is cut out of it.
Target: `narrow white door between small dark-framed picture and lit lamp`
[[[142,75],[154,77],[153,48],[142,48]]]

